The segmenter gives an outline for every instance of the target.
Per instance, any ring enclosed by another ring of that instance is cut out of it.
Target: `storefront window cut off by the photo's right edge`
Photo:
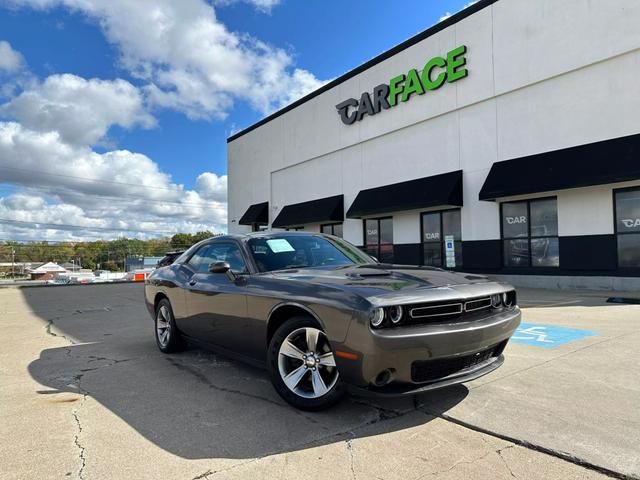
[[[640,188],[615,192],[618,266],[640,267]]]

